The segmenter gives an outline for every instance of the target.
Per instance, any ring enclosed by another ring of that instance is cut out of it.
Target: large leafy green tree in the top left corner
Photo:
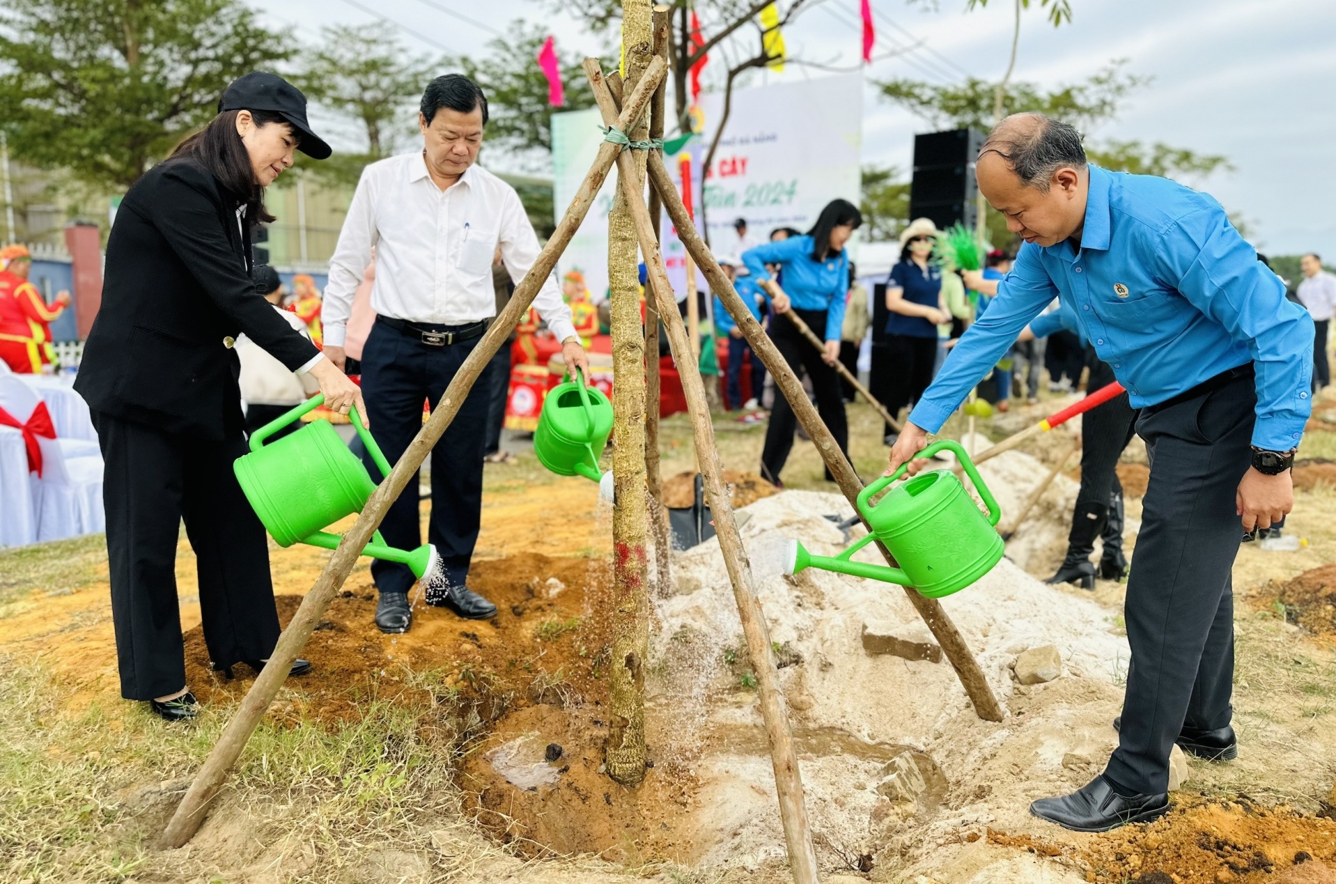
[[[0,126],[16,160],[124,190],[289,44],[239,0],[7,0]]]

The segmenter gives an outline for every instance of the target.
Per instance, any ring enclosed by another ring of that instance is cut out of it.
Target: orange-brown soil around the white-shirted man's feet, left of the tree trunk
[[[592,613],[608,577],[603,560],[530,554],[474,562],[469,584],[496,602],[494,620],[466,621],[418,601],[413,629],[386,636],[374,624],[375,589],[362,576],[325,612],[302,652],[311,672],[285,685],[274,712],[353,720],[362,704],[379,698],[460,702],[490,721],[532,702],[599,697],[605,618]],[[301,601],[277,597],[285,626]],[[186,633],[186,670],[200,701],[224,705],[239,702],[257,674],[244,664],[232,668],[235,678],[214,672],[200,626]]]

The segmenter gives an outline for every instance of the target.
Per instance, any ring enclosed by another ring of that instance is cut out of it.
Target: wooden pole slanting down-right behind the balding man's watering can
[[[807,399],[798,375],[794,374],[794,370],[788,367],[779,350],[775,349],[775,343],[766,337],[766,331],[760,327],[760,323],[752,316],[743,299],[737,296],[733,284],[719,267],[719,262],[711,255],[709,247],[700,238],[695,224],[687,216],[687,210],[677,198],[677,190],[673,187],[672,176],[668,175],[667,167],[664,167],[663,158],[653,151],[649,152],[649,182],[659,190],[659,195],[664,200],[664,207],[668,210],[668,216],[677,227],[677,236],[681,238],[683,244],[687,246],[687,251],[696,259],[701,270],[704,270],[711,288],[724,302],[724,307],[732,314],[737,327],[741,328],[747,343],[751,345],[752,351],[760,357],[771,378],[775,379],[775,386],[788,399],[794,414],[798,417],[798,422],[807,430],[822,459],[826,461],[826,469],[835,477],[840,491],[848,498],[848,502],[856,511],[858,494],[863,490],[863,481],[854,473],[854,466],[835,443],[835,437],[831,435],[830,429],[816,413],[816,407]],[[891,557],[890,550],[882,546],[880,542],[878,542],[878,547],[882,550],[886,561],[894,566],[895,560]],[[986,721],[1002,721],[1002,706],[998,705],[997,697],[993,696],[993,689],[989,688],[989,681],[970,652],[970,646],[965,642],[965,637],[961,636],[955,624],[947,617],[942,605],[935,598],[926,598],[908,586],[904,588],[904,593],[910,604],[914,605],[914,609],[918,610],[919,616],[927,624],[927,628],[933,630],[938,645],[942,646],[942,653],[951,661],[957,677],[974,704],[975,713]]]

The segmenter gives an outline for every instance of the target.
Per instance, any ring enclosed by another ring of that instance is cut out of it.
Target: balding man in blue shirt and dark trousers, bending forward
[[[1045,820],[1101,832],[1168,809],[1174,742],[1212,760],[1237,754],[1230,568],[1242,534],[1293,503],[1313,323],[1220,203],[1162,178],[1089,167],[1065,123],[1007,118],[977,171],[1026,244],[910,414],[890,467],[927,443],[1054,296],[1141,410],[1150,483],[1128,581],[1132,662],[1118,748],[1079,791],[1030,805]]]

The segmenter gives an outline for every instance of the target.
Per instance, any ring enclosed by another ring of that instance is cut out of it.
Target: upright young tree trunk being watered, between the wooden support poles
[[[636,87],[652,57],[651,0],[623,0],[621,47],[625,89]],[[649,136],[644,118],[628,132]],[[645,152],[633,151],[637,187],[644,188]],[[621,172],[619,171],[620,176]],[[612,475],[613,612],[608,716],[608,776],[636,787],[645,776],[645,656],[649,650],[649,588],[645,474],[645,338],[640,324],[640,263],[636,228],[627,200],[617,196],[608,215],[608,286],[612,299]],[[657,403],[656,403],[657,405]]]

